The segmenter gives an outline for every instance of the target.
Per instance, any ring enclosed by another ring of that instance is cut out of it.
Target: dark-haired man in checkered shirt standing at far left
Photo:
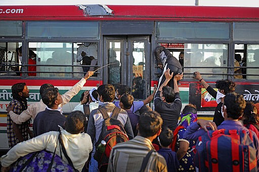
[[[14,105],[14,112],[20,114],[23,110],[27,109],[27,99],[29,97],[29,90],[25,83],[17,83],[12,86],[13,100],[9,105]],[[22,123],[21,125],[15,124],[10,115],[7,115],[7,137],[9,147],[15,146],[17,143],[28,140],[28,134],[32,136],[29,129],[30,120]]]

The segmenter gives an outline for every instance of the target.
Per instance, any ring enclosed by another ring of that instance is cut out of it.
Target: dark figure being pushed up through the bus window
[[[158,88],[159,88],[160,85],[165,81],[164,72],[168,68],[170,69],[170,73],[174,72],[174,76],[177,74],[182,74],[183,68],[180,62],[174,56],[172,56],[170,51],[165,47],[157,46],[154,50],[154,53],[155,53],[155,58],[156,58],[158,68],[163,69],[162,75],[159,78],[159,82],[158,82]],[[172,78],[174,78],[174,76],[172,76]],[[174,89],[174,80],[170,80],[168,84],[170,87]]]

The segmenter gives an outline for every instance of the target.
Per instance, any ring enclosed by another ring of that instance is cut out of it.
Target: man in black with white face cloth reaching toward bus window
[[[215,91],[210,85],[206,83],[199,72],[194,72],[193,78],[199,80],[203,87],[208,91],[208,93],[216,99],[218,105],[215,108],[213,122],[217,126],[221,125],[221,123],[224,121],[224,118],[221,114],[221,107],[224,103],[225,95],[234,92],[236,89],[236,84],[229,80],[218,80],[216,81],[216,88],[218,88],[218,91]]]

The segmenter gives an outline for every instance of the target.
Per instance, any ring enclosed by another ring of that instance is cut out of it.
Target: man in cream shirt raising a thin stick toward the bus
[[[65,94],[61,95],[62,97],[62,103],[59,105],[59,107],[62,107],[64,104],[68,103],[74,95],[76,95],[85,84],[86,80],[90,78],[94,74],[93,71],[88,71],[88,73],[79,81],[77,82],[70,90],[65,92]],[[39,88],[39,94],[42,97],[43,92],[48,88],[54,88],[52,84],[43,84]],[[34,119],[36,115],[44,111],[46,109],[47,105],[42,102],[40,99],[39,102],[35,102],[28,106],[26,110],[24,110],[20,115],[14,113],[14,106],[8,106],[7,112],[10,114],[11,119],[16,124],[22,124],[23,122],[29,120],[30,118]]]

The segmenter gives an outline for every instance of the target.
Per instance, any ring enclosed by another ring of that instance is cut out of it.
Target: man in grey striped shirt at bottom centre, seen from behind
[[[148,152],[155,150],[152,141],[159,136],[162,123],[156,111],[142,114],[137,125],[138,136],[112,148],[107,171],[140,171]],[[143,171],[167,171],[164,157],[153,152]]]

